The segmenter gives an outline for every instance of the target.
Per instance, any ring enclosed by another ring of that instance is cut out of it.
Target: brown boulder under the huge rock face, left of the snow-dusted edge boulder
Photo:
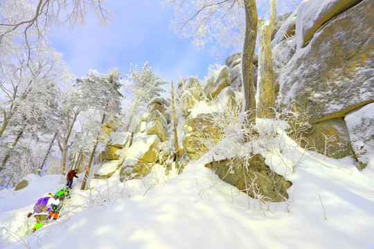
[[[308,144],[302,140],[303,147],[312,146],[319,154],[326,154],[332,158],[354,156],[343,118],[333,118],[313,124],[311,131],[305,134],[305,138]]]

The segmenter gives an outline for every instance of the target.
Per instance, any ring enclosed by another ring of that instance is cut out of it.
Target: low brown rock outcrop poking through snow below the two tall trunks
[[[265,164],[265,158],[261,155],[254,155],[249,162],[250,167],[246,169],[240,160],[221,160],[218,162],[209,163],[205,167],[209,167],[215,171],[215,174],[220,176],[222,181],[229,183],[239,190],[246,192],[249,189],[249,196],[256,198],[253,191],[251,191],[251,181],[257,185],[259,190],[254,190],[256,194],[262,194],[271,201],[285,201],[288,199],[287,189],[291,187],[290,181],[285,181],[283,176],[279,176]],[[244,176],[245,174],[245,176]],[[274,179],[271,175],[274,174]],[[247,179],[247,180],[246,180]],[[276,183],[276,186],[273,183]],[[255,187],[256,189],[256,187]],[[284,198],[283,198],[283,197]]]

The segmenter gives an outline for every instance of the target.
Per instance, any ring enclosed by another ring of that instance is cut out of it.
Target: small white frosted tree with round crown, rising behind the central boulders
[[[165,92],[165,90],[161,88],[161,85],[167,84],[168,82],[163,80],[162,76],[156,75],[153,72],[152,66],[148,67],[148,62],[145,62],[141,71],[139,71],[138,65],[135,65],[134,69],[131,64],[130,73],[127,74],[127,77],[129,80],[127,80],[126,84],[131,86],[132,93],[136,96],[130,119],[127,122],[126,129],[128,130],[138,104],[145,104],[152,98],[159,96],[160,93]]]

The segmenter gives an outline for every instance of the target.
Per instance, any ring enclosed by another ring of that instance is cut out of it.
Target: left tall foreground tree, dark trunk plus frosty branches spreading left
[[[248,111],[249,120],[254,121],[256,98],[252,64],[257,37],[256,1],[166,0],[163,3],[175,7],[177,20],[172,22],[172,26],[181,30],[184,37],[195,37],[194,43],[197,46],[204,47],[206,42],[211,42],[213,39],[216,39],[220,44],[226,44],[226,42],[222,42],[223,40],[233,42],[233,44],[242,44],[243,111]],[[231,35],[227,35],[228,33]],[[238,42],[240,35],[244,37],[242,42]],[[238,45],[236,46],[238,47]]]

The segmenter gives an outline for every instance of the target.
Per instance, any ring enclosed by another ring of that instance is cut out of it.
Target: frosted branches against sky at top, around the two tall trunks
[[[277,0],[278,13],[294,10],[302,0]],[[170,28],[181,37],[193,37],[193,44],[204,48],[214,42],[213,55],[242,50],[245,29],[243,0],[164,0],[175,9]],[[268,0],[257,0],[258,17],[269,19]]]

